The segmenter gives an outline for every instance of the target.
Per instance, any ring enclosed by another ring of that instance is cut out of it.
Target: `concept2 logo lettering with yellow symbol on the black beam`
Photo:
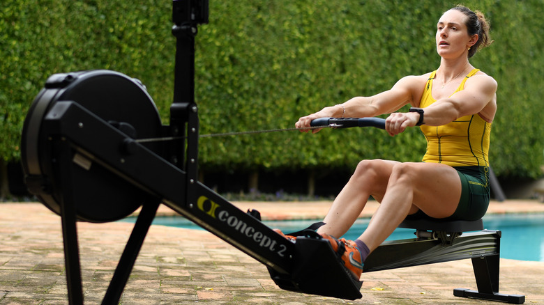
[[[252,241],[256,242],[259,247],[276,252],[281,257],[285,256],[285,250],[287,250],[285,244],[278,244],[278,242],[271,237],[255,229],[242,219],[239,219],[236,215],[231,215],[227,210],[222,210],[221,205],[211,201],[206,196],[200,196],[198,198],[197,207],[210,217],[218,219],[245,237],[249,237]]]

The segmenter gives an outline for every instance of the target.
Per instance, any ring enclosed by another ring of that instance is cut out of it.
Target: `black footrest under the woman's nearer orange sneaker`
[[[269,268],[273,281],[282,289],[296,292],[359,299],[362,281],[355,281],[333,251],[320,237],[298,237],[291,274]]]

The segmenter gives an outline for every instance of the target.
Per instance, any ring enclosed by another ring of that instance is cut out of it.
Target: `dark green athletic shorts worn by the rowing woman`
[[[490,200],[490,182],[488,166],[453,166],[461,178],[461,198],[455,212],[445,220],[481,219],[488,210]],[[409,219],[425,218],[428,216],[418,210],[409,215]]]

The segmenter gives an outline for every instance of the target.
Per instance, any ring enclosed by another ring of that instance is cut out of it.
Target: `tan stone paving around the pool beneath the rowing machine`
[[[267,219],[322,217],[330,205],[235,204]],[[165,206],[159,212],[172,214]],[[490,212],[544,212],[544,204],[492,203]],[[77,227],[85,303],[100,304],[133,224]],[[476,288],[470,260],[362,279],[363,297],[355,301],[288,292],[275,286],[264,265],[211,233],[152,226],[121,304],[497,304],[453,296],[454,288]],[[525,304],[544,304],[543,279],[544,263],[501,260],[501,292],[526,295]],[[0,204],[0,304],[68,304],[60,217],[40,203]]]

